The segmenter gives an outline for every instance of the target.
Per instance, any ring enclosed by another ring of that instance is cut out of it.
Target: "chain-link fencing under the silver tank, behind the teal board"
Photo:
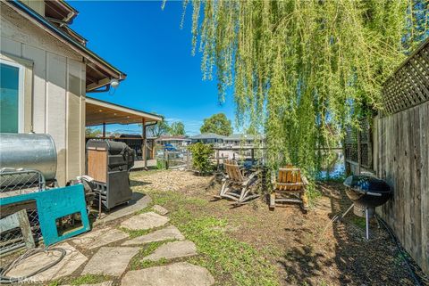
[[[12,197],[29,192],[40,192],[46,189],[44,176],[37,170],[10,169],[0,170],[0,198]],[[2,206],[0,219],[9,217],[25,209],[29,218],[29,226],[36,243],[41,240],[42,233],[38,222],[38,208],[35,200]],[[2,222],[2,224],[5,224]],[[2,225],[2,228],[5,225]],[[0,233],[0,256],[9,254],[25,247],[20,227],[4,230]]]

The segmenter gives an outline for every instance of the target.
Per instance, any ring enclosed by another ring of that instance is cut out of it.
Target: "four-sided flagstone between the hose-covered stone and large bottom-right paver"
[[[139,248],[102,247],[83,269],[84,274],[121,276]]]

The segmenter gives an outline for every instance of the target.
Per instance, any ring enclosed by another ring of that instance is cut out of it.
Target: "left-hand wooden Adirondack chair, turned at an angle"
[[[260,171],[246,174],[246,171],[240,168],[237,161],[231,159],[225,160],[223,167],[226,176],[223,179],[221,192],[216,198],[235,200],[235,205],[242,205],[260,196],[255,192],[260,183],[258,177]]]

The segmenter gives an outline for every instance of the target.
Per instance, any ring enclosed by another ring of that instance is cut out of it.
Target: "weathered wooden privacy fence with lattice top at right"
[[[383,87],[386,113],[374,118],[373,169],[393,188],[377,212],[429,273],[429,39]]]

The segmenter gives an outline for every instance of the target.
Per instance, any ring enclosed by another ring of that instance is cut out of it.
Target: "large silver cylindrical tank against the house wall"
[[[38,170],[46,181],[56,175],[54,139],[46,134],[0,134],[0,168]]]

